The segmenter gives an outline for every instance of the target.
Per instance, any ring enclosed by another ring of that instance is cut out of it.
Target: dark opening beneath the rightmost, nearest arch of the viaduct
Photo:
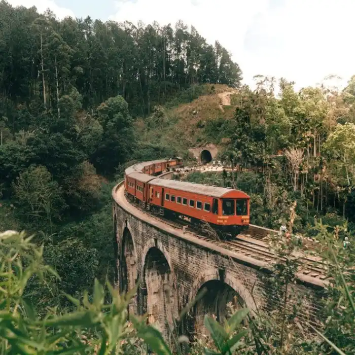
[[[197,295],[205,289],[205,294],[194,306],[194,316],[190,325],[190,336],[203,334],[209,336],[209,332],[204,327],[204,316],[215,316],[218,322],[224,322],[233,313],[243,308],[244,300],[227,283],[221,280],[210,280],[205,282]]]

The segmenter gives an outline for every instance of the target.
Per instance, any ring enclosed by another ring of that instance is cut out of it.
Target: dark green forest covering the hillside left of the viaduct
[[[196,84],[238,87],[241,71],[183,22],[58,21],[2,1],[0,24],[0,230],[35,232],[60,291],[82,292],[112,277],[120,166],[176,153],[140,140],[135,117],[191,101]]]

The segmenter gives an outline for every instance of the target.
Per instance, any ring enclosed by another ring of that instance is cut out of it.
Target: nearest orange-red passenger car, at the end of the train
[[[148,188],[151,205],[210,223],[221,232],[237,234],[249,225],[250,197],[242,191],[159,178]]]

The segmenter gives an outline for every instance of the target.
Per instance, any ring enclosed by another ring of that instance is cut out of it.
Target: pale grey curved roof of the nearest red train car
[[[154,181],[151,182],[151,185],[161,186],[164,188],[182,190],[187,192],[192,192],[195,194],[207,195],[212,197],[231,197],[231,198],[250,198],[245,192],[235,189],[227,189],[225,187],[202,185],[202,184],[193,184],[183,181],[161,179],[156,177]],[[237,193],[238,196],[231,196],[232,194]]]

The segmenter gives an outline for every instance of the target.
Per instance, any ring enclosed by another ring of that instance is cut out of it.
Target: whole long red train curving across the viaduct
[[[181,158],[135,164],[125,170],[125,190],[143,208],[162,216],[208,223],[223,235],[235,236],[250,222],[250,197],[230,188],[161,179],[154,175],[182,165]]]

